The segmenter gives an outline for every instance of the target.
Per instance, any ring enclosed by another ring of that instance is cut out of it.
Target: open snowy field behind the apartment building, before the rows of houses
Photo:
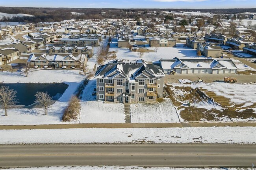
[[[154,50],[152,47],[147,49]],[[183,44],[177,43],[177,47],[159,47],[157,52],[144,52],[142,58],[138,57],[139,52],[131,52],[127,48],[110,48],[110,51],[117,50],[117,59],[156,61],[160,59],[173,59],[175,57],[198,57],[197,51],[191,48],[183,48]],[[202,56],[204,57],[204,56]]]

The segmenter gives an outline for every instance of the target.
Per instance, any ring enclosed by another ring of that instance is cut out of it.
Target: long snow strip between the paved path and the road
[[[1,144],[14,143],[253,143],[256,127],[76,128],[0,130]]]

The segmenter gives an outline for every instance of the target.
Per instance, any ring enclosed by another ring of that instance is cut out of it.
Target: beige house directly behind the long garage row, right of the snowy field
[[[198,43],[197,51],[201,51],[201,54],[206,57],[222,56],[222,48],[210,43]]]

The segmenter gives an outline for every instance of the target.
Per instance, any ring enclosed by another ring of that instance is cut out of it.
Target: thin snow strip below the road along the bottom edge
[[[45,166],[29,168],[10,168],[8,170],[219,170],[219,168],[170,168],[170,167],[140,167],[140,166]],[[249,168],[228,168],[229,170],[249,170]],[[251,168],[250,168],[251,170]]]

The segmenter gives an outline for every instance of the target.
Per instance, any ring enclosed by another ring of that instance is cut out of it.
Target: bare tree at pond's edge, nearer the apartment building
[[[37,103],[39,107],[43,107],[45,115],[47,115],[48,109],[54,102],[47,92],[37,92],[35,94],[35,103]]]

